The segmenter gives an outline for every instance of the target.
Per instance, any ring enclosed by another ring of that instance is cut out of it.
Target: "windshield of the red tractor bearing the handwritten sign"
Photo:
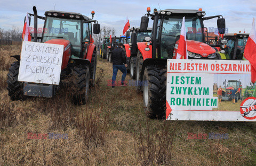
[[[42,42],[51,39],[65,39],[71,43],[71,54],[81,54],[81,20],[47,17]]]

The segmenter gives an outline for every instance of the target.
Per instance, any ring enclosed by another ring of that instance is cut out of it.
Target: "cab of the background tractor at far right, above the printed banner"
[[[227,33],[223,39],[227,40],[226,45],[223,45],[226,59],[244,59],[244,48],[249,38],[249,33]],[[221,54],[221,53],[219,53]],[[222,56],[223,56],[222,55]]]

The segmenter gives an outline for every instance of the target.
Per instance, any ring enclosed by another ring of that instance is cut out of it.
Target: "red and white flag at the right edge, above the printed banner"
[[[252,83],[256,81],[256,31],[255,31],[255,18],[252,21],[252,29],[247,40],[244,57],[249,60],[251,64]]]

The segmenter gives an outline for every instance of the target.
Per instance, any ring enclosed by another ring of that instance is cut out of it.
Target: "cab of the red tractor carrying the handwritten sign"
[[[94,12],[92,12],[92,15]],[[71,58],[82,58],[87,47],[93,43],[93,20],[80,13],[46,11],[42,42],[70,42]]]

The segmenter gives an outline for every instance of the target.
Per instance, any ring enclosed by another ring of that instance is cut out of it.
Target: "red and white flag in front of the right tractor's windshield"
[[[183,17],[176,59],[188,59],[185,17]]]

